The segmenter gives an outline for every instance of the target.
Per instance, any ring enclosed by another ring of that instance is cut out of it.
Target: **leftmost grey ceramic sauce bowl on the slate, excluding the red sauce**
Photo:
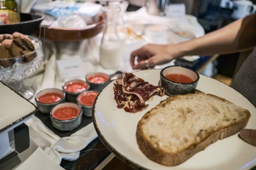
[[[46,95],[46,94],[57,94],[62,98],[59,101],[52,102],[52,103],[45,103],[45,102],[43,103],[42,101],[40,102],[39,98]],[[40,112],[49,114],[52,107],[54,107],[57,104],[62,103],[62,102],[65,101],[65,97],[66,97],[65,92],[60,90],[60,89],[45,89],[45,90],[42,90],[42,91],[38,92],[38,94],[35,96],[35,101],[36,101],[36,105],[38,107],[38,110]]]

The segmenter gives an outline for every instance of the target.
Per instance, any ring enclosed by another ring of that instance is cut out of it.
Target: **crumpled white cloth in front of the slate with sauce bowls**
[[[93,123],[63,138],[54,134],[37,117],[28,120],[26,124],[29,126],[32,140],[58,164],[62,159],[70,161],[78,159],[79,152],[97,137]]]

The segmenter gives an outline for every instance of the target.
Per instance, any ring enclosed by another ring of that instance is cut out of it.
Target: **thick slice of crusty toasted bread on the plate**
[[[156,163],[178,165],[211,143],[244,129],[251,114],[224,98],[196,91],[161,101],[140,119],[140,150]]]

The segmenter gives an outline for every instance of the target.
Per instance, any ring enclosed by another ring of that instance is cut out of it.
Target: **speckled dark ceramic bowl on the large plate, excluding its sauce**
[[[166,78],[169,74],[182,74],[190,78],[189,83],[178,83]],[[199,75],[193,70],[182,66],[169,66],[165,67],[160,72],[160,82],[165,88],[165,92],[168,96],[176,94],[192,93],[196,89],[199,80]]]

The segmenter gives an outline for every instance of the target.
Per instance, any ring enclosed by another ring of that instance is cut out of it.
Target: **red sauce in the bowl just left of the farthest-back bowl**
[[[73,81],[64,85],[64,90],[71,93],[79,93],[88,89],[88,85],[85,82]]]

